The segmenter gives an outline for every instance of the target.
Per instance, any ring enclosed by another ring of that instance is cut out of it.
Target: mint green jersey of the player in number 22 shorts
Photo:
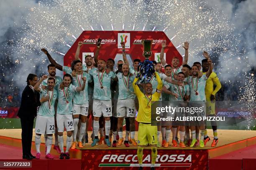
[[[47,97],[47,96],[49,96],[49,98],[51,99],[51,105],[50,105],[50,100],[47,100],[41,103],[41,106],[39,106],[39,110],[37,114],[41,116],[54,117],[54,114],[55,114],[54,103],[56,100],[58,100],[58,90],[54,88],[54,90],[49,91],[49,94],[48,94],[47,90],[43,90],[41,88],[40,99],[42,97]]]

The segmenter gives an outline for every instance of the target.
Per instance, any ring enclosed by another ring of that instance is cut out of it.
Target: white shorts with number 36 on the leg
[[[74,130],[74,120],[72,114],[61,115],[57,113],[56,120],[58,132],[64,132],[64,127],[67,131]]]

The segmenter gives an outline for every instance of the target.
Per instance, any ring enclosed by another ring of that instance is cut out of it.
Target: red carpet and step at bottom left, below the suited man
[[[36,151],[31,151],[32,155],[36,155]],[[14,168],[14,167],[3,167],[0,166],[0,169],[15,169],[15,170],[58,170],[58,169],[72,169],[72,170],[81,170],[81,160],[79,159],[69,159],[69,160],[60,160],[59,155],[53,155],[54,160],[46,160],[45,153],[41,152],[41,159],[36,160],[23,160],[22,158],[22,149],[18,147],[13,147],[9,145],[0,144],[0,162],[31,162],[32,168]]]

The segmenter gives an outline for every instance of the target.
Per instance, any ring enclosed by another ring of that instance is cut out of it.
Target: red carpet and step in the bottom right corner
[[[256,145],[227,153],[209,160],[209,170],[256,170]]]

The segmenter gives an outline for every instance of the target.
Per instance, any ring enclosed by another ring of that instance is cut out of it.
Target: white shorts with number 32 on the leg
[[[134,99],[123,99],[117,102],[117,117],[135,117],[136,108]]]

